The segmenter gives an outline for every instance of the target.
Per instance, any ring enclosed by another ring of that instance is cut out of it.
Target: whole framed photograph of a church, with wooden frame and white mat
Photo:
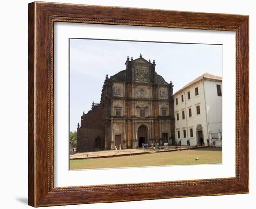
[[[29,4],[29,205],[249,193],[249,16]]]

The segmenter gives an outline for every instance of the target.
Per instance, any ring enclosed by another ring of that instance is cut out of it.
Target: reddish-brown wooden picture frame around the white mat
[[[30,3],[28,15],[29,205],[249,193],[249,16],[43,2]],[[236,32],[236,177],[54,187],[54,22]]]

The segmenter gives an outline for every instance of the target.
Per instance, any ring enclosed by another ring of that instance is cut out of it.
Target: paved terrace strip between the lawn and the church
[[[207,146],[190,146],[187,147],[185,145],[182,146],[160,146],[160,149],[153,148],[135,148],[135,149],[124,149],[124,150],[104,150],[97,152],[81,152],[70,155],[70,159],[86,159],[86,158],[108,158],[108,157],[118,157],[118,156],[127,156],[127,155],[138,155],[138,154],[146,154],[152,152],[171,152],[178,150],[187,150],[187,149],[195,149],[202,148]]]

